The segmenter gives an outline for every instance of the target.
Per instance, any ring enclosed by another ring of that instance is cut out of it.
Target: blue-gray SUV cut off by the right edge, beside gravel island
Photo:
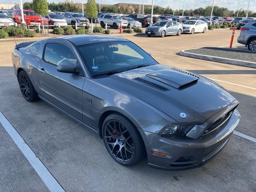
[[[237,42],[248,47],[250,51],[256,51],[256,20],[247,23],[241,28]]]

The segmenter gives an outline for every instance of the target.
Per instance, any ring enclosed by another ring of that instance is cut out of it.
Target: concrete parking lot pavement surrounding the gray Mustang
[[[234,46],[239,48],[237,36],[238,32]],[[236,131],[256,138],[256,69],[179,55],[183,49],[226,47],[230,30],[165,38],[122,37],[150,52],[161,64],[202,74],[227,88],[240,101],[242,118]],[[110,157],[98,134],[42,100],[26,102],[12,67],[14,42],[0,41],[0,47],[0,112],[65,191],[256,192],[256,143],[235,134],[224,150],[201,168],[158,170],[147,166],[146,159],[133,167],[121,166]],[[0,170],[0,192],[48,191],[2,125]]]

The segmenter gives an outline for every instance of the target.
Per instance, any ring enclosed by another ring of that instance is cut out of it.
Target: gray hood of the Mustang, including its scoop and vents
[[[200,124],[236,100],[215,82],[187,71],[152,65],[97,79],[136,97],[179,123]],[[180,113],[186,118],[181,118]]]

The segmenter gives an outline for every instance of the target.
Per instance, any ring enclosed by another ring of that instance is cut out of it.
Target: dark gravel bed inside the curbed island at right
[[[184,50],[184,52],[215,56],[221,58],[230,58],[235,60],[256,62],[256,52],[245,51],[245,50],[234,50],[229,48],[215,48],[215,47],[204,47],[198,49]]]

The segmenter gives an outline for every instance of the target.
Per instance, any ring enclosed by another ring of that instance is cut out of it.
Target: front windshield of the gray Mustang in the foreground
[[[104,42],[78,46],[92,76],[118,73],[132,68],[158,64],[132,42]]]

